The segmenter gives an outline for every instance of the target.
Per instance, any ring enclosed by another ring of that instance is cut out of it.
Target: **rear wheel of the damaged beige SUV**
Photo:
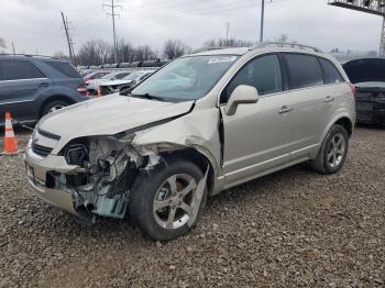
[[[338,173],[346,160],[349,135],[346,130],[336,124],[329,131],[311,167],[320,174]]]

